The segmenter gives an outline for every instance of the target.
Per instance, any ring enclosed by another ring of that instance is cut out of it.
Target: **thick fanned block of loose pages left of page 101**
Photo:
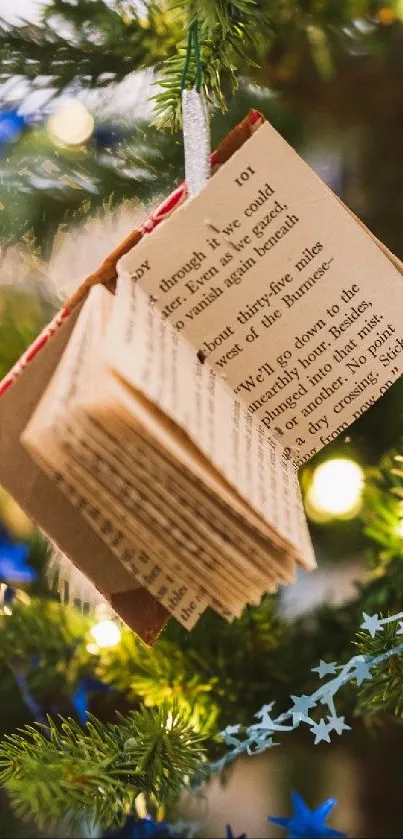
[[[314,565],[292,460],[127,277],[90,292],[22,440],[189,628]]]

